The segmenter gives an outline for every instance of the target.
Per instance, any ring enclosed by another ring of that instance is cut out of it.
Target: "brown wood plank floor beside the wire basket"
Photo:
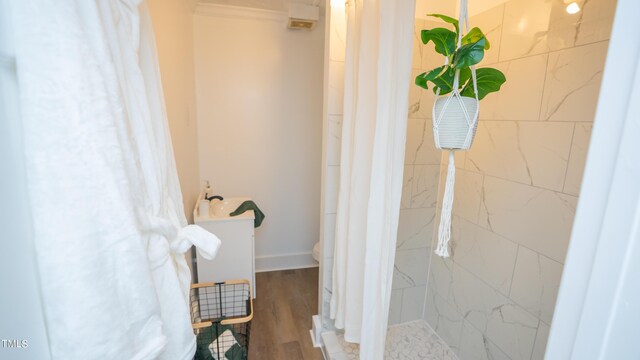
[[[318,268],[256,274],[249,360],[322,360],[309,336],[318,313]]]

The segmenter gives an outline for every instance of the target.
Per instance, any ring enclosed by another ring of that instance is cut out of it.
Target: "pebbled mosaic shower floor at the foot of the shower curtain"
[[[326,334],[323,334],[325,338]],[[342,335],[335,336],[340,350],[326,351],[328,360],[358,360],[360,349]],[[438,335],[424,321],[395,325],[387,332],[385,360],[458,360]]]

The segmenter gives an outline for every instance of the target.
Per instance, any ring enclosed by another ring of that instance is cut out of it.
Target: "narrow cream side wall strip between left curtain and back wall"
[[[156,35],[171,141],[185,213],[192,221],[200,193],[193,60],[193,4],[183,0],[148,0]]]

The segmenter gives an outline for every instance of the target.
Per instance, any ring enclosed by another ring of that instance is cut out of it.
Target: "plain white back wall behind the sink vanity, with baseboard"
[[[287,30],[271,11],[196,11],[200,176],[222,196],[251,196],[266,214],[258,271],[315,265],[323,32]]]

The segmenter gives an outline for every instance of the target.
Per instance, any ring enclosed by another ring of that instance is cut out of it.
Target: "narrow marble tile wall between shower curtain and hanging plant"
[[[412,76],[437,67],[432,48],[422,45],[420,31],[435,22],[415,19]],[[409,118],[405,148],[404,185],[393,271],[389,325],[422,318],[428,280],[431,238],[438,203],[440,151],[433,145],[430,90],[413,85],[409,92]],[[426,259],[426,261],[425,261]]]

